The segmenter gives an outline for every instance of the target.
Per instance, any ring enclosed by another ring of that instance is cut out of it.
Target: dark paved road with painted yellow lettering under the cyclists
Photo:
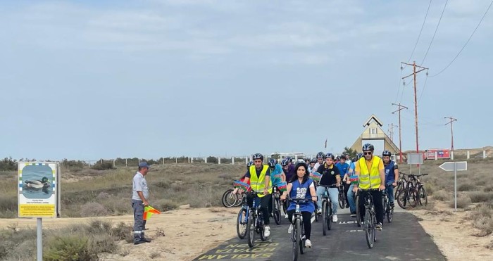
[[[339,210],[338,217],[327,236],[322,234],[322,223],[313,222],[313,248],[305,248],[306,253],[298,260],[446,260],[416,217],[404,210],[396,210],[390,224],[385,219],[372,249],[366,245],[365,232],[356,227],[356,219],[349,216],[347,209]],[[246,238],[235,237],[195,260],[292,260],[288,226],[287,219],[282,219],[279,226],[271,219],[268,241],[258,239],[254,248],[249,248]]]

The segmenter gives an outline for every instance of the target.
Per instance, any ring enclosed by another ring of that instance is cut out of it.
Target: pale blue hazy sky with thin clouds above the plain
[[[0,157],[340,153],[392,103],[411,150],[408,61],[420,149],[450,147],[446,116],[455,148],[491,146],[493,11],[432,77],[491,1],[445,3],[0,1]]]

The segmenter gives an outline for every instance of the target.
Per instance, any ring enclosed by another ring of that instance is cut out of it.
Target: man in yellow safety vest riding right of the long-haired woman
[[[354,172],[358,176],[358,185],[354,186],[353,192],[356,193],[358,188],[361,190],[377,189],[370,191],[375,205],[375,215],[377,217],[377,225],[375,229],[382,230],[383,224],[383,205],[382,205],[382,190],[385,189],[385,167],[380,157],[373,155],[375,147],[372,144],[363,145],[364,157],[356,163]],[[364,197],[359,198],[359,212],[361,220],[365,217]]]

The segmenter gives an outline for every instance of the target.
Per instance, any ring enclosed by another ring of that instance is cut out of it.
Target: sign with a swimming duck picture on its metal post
[[[37,219],[37,260],[43,260],[43,217],[60,217],[60,164],[18,163],[18,217]]]

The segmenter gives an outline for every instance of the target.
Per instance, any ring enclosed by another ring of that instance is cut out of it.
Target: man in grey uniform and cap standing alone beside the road
[[[134,244],[149,243],[144,237],[146,220],[144,220],[144,206],[149,205],[149,188],[145,176],[149,172],[149,165],[145,161],[139,164],[139,171],[132,180],[132,208],[134,209]]]

